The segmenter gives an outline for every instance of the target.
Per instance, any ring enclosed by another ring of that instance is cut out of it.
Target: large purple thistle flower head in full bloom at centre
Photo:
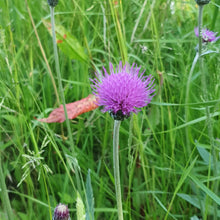
[[[151,102],[155,92],[152,76],[139,74],[140,67],[133,64],[119,63],[114,71],[110,63],[110,74],[104,69],[104,74],[96,73],[93,85],[93,94],[97,97],[98,105],[104,106],[103,112],[109,111],[115,120],[123,120],[136,113]]]

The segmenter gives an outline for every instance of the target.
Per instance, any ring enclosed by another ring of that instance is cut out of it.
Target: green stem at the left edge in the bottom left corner
[[[8,215],[9,220],[14,220],[14,215],[11,209],[11,204],[10,200],[8,197],[8,192],[7,192],[7,187],[5,184],[5,177],[3,174],[3,169],[2,169],[2,161],[1,161],[1,153],[0,153],[0,188],[1,188],[1,197],[2,197],[2,204],[4,206],[4,209]]]

